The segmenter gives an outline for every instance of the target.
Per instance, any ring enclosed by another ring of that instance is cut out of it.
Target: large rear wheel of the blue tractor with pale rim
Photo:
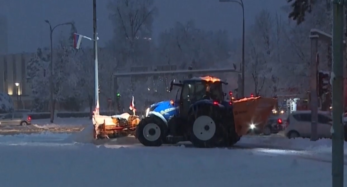
[[[223,128],[214,106],[202,105],[191,111],[188,117],[190,141],[195,147],[219,147],[223,142]]]

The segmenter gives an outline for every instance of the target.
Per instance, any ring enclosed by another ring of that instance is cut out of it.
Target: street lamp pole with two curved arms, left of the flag
[[[49,64],[49,69],[51,71],[51,76],[50,76],[50,79],[49,79],[49,86],[50,86],[50,103],[51,103],[51,123],[53,123],[53,120],[54,120],[54,107],[53,107],[53,90],[54,90],[54,87],[53,87],[53,38],[52,38],[52,34],[53,34],[53,31],[55,28],[57,28],[58,26],[61,26],[61,25],[74,25],[74,23],[72,22],[67,22],[67,23],[62,23],[62,24],[58,24],[54,27],[52,27],[51,23],[49,23],[49,21],[46,19],[44,20],[46,23],[48,23],[49,25],[49,29],[50,29],[50,40],[51,40],[51,56],[50,56],[50,64]]]

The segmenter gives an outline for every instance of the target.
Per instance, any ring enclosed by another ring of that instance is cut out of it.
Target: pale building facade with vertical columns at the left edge
[[[27,82],[26,67],[32,55],[0,55],[0,92],[11,95],[15,105],[22,109],[31,107],[31,88]]]

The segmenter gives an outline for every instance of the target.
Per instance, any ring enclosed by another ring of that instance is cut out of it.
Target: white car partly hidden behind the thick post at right
[[[317,133],[319,138],[331,138],[331,117],[324,112],[318,112]],[[311,137],[311,111],[295,111],[289,114],[284,131],[288,138]]]

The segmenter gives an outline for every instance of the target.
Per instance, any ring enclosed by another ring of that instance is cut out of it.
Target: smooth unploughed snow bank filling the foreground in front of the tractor
[[[184,147],[110,149],[79,144],[59,147],[0,146],[0,149],[3,155],[0,155],[2,187],[331,185],[331,164],[292,156],[255,155],[249,150]],[[25,175],[20,175],[18,180],[14,177],[18,173]]]

